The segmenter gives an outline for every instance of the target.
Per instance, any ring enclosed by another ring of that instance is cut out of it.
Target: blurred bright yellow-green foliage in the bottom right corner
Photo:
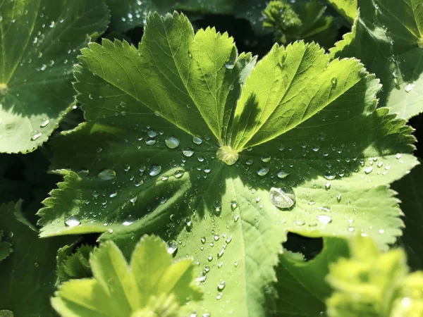
[[[350,259],[330,265],[329,317],[422,316],[423,272],[408,273],[405,252],[381,253],[368,237],[351,242]]]

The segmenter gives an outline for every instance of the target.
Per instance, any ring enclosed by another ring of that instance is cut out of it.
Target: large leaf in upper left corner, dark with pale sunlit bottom
[[[101,0],[3,0],[0,16],[0,151],[25,153],[71,109],[73,63],[108,11]]]

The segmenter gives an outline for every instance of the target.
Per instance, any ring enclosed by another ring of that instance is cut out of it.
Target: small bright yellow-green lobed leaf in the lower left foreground
[[[180,316],[186,299],[195,302],[201,293],[192,261],[172,262],[158,237],[142,237],[129,265],[113,242],[104,242],[90,259],[94,278],[63,283],[51,304],[61,316]]]

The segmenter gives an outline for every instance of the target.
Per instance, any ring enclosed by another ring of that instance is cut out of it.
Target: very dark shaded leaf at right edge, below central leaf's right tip
[[[404,213],[405,228],[398,244],[407,252],[408,265],[413,270],[423,269],[423,245],[421,239],[423,225],[423,167],[417,166],[392,187],[398,192],[400,207]]]

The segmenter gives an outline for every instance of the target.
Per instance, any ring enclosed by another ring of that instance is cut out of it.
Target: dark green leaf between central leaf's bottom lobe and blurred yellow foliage
[[[338,238],[325,238],[324,249],[307,262],[302,254],[284,250],[276,268],[276,297],[269,297],[271,316],[319,316],[324,313],[326,298],[332,292],[326,282],[329,264],[348,256],[348,242]]]

